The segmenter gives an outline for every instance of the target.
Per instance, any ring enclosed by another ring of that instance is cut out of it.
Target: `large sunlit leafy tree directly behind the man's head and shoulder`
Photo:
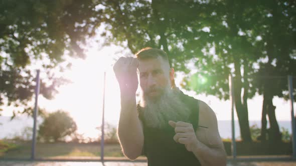
[[[200,71],[198,75],[220,75],[211,77],[207,84],[199,86],[203,88],[194,87],[194,90],[228,98],[228,74],[231,73],[229,65],[235,63],[235,104],[241,135],[244,140],[251,140],[247,105],[239,102],[243,88],[239,82],[241,58],[235,53],[239,48],[229,47],[229,44],[237,41],[241,43],[246,39],[237,35],[237,28],[223,25],[223,21],[232,18],[232,13],[216,10],[220,5],[222,8],[232,8],[230,2],[129,0],[105,1],[102,4],[105,6],[103,14],[106,16],[107,29],[112,33],[108,41],[127,42],[132,52],[144,46],[164,49],[172,59],[172,66],[188,75],[183,83],[185,88],[192,86],[189,82],[191,68],[186,64],[193,63]],[[210,53],[212,47],[217,49],[217,54]],[[250,92],[245,90],[245,93]],[[246,100],[247,97],[244,98]]]

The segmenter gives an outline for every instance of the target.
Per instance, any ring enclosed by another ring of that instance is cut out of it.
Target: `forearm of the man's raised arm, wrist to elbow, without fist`
[[[127,157],[135,159],[140,154],[144,136],[137,116],[135,96],[121,97],[118,138]]]

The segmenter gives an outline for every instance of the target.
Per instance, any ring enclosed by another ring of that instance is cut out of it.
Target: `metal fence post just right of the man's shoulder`
[[[235,142],[235,128],[234,128],[234,87],[233,87],[233,77],[229,74],[229,99],[231,102],[231,132],[232,132],[232,142],[231,151],[232,156],[236,158],[236,142]]]

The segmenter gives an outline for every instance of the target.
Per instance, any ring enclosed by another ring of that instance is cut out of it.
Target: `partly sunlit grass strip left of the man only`
[[[0,158],[29,158],[31,156],[31,142],[23,142],[0,153]],[[37,158],[52,157],[99,157],[101,147],[98,143],[37,143]],[[119,144],[105,144],[104,156],[122,157]]]

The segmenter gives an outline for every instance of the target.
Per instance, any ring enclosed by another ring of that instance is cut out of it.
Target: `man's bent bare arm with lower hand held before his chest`
[[[200,102],[199,125],[194,131],[191,123],[169,121],[175,128],[174,140],[185,144],[192,151],[201,165],[226,165],[226,152],[218,132],[217,118],[214,111],[204,102]]]

